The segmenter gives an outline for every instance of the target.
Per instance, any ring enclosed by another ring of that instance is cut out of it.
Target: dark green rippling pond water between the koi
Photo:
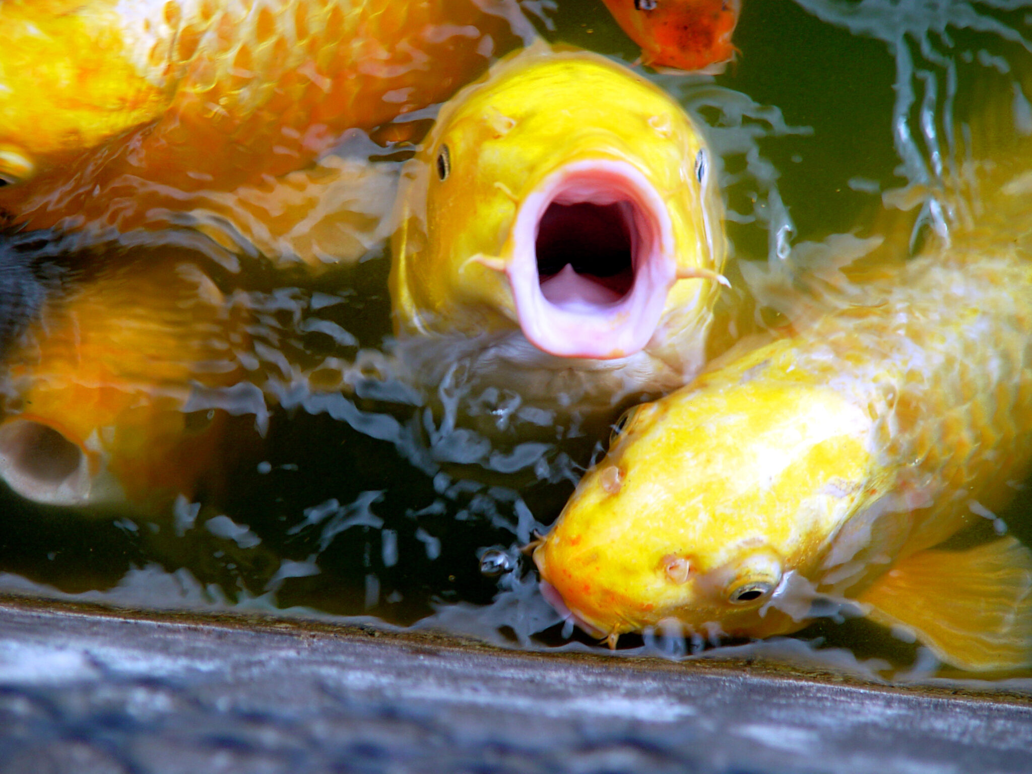
[[[525,5],[548,39],[637,57],[600,2],[553,5]],[[955,114],[970,109],[978,90],[1009,89],[1008,67],[1025,66],[1028,44],[1015,38],[1032,37],[1030,13],[1018,3],[745,0],[735,33],[741,55],[723,74],[650,74],[719,157],[733,260],[777,261],[802,243],[863,235],[882,193],[934,187],[936,159],[957,155],[947,130]],[[934,215],[926,208],[915,233]],[[394,378],[386,246],[357,266],[313,276],[248,257],[231,270],[211,251],[175,247],[181,240],[166,234],[77,252],[59,244],[45,248],[45,261],[69,288],[169,251],[196,265],[249,311],[249,373],[261,375],[264,397],[257,407],[232,402],[223,453],[203,485],[174,505],[68,510],[0,491],[0,590],[369,616],[523,647],[594,647],[544,603],[516,549],[558,515],[605,448],[607,421],[543,428],[516,412],[520,396],[456,383],[446,396],[459,407],[455,424],[432,395]],[[24,246],[20,255],[39,250],[25,235],[7,241]],[[734,268],[731,277],[743,286]],[[219,407],[225,401],[195,409]],[[1026,541],[1029,496],[999,514]],[[988,520],[979,528],[972,539],[992,535]],[[480,572],[490,547],[507,553],[512,573]],[[686,649],[633,638],[626,647],[675,656]],[[802,654],[819,668],[900,678],[936,674],[917,646],[857,619],[707,651],[721,653]]]

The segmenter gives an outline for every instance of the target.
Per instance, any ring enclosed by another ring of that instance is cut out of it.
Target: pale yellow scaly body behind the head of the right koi
[[[927,525],[915,523],[922,531],[934,523],[941,537],[910,551],[956,531],[971,518],[969,496],[999,496],[999,484],[1027,464],[1032,297],[1010,290],[1032,283],[1027,258],[987,259],[972,248],[911,261],[871,293],[877,305],[784,340],[767,365],[767,378],[847,392],[878,418],[881,464],[897,471],[899,486],[958,501],[948,517],[935,509]]]

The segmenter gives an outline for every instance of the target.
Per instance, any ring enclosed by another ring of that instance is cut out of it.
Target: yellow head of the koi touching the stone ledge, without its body
[[[877,488],[872,422],[831,389],[760,381],[633,410],[535,551],[546,596],[601,637],[800,628],[809,601],[785,598],[814,586],[793,580]]]

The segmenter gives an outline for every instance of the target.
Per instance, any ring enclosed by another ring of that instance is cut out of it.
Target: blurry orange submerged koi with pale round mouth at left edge
[[[191,496],[218,469],[227,420],[192,398],[241,381],[246,321],[178,260],[105,271],[52,298],[11,353],[0,478],[56,506]]]

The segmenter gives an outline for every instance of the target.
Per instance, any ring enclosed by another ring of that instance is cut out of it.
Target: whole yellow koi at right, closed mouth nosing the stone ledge
[[[546,595],[611,644],[786,634],[831,601],[964,669],[1032,663],[1028,548],[939,547],[1032,457],[1030,178],[868,301],[633,410],[535,551]]]

